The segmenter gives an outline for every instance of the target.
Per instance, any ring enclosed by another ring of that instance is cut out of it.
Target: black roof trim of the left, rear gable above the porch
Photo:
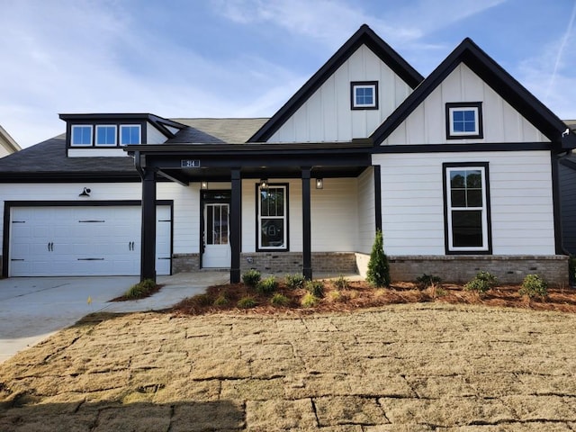
[[[381,58],[383,62],[390,67],[396,75],[400,76],[404,82],[410,85],[411,88],[415,88],[424,79],[424,77],[421,76],[414,67],[411,67],[404,58],[401,58],[390,45],[384,42],[370,27],[363,24],[358,31],[329,58],[326,64],[320,67],[318,72],[311,76],[306,84],[302,85],[302,88],[296,92],[257,133],[248,139],[248,141],[262,142],[274,135],[275,131],[363,44],[369,49],[372,49],[374,54]]]

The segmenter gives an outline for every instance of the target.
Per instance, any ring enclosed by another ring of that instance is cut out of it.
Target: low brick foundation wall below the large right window
[[[548,284],[568,285],[568,257],[555,256],[406,256],[388,257],[392,281],[414,281],[437,275],[445,282],[468,282],[480,271],[500,284],[521,284],[526,275],[540,275]]]

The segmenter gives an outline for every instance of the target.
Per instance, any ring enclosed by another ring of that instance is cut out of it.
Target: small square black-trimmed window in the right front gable
[[[482,138],[482,103],[446,103],[446,138]]]

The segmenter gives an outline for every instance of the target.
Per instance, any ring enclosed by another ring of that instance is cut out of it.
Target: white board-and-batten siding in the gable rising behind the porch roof
[[[350,83],[378,81],[378,110],[351,110]],[[362,45],[268,142],[349,141],[368,137],[411,93],[374,52]]]

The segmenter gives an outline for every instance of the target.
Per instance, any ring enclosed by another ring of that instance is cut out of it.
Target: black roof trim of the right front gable
[[[420,103],[440,85],[455,67],[464,63],[518,112],[541,130],[553,143],[562,142],[563,148],[576,148],[573,133],[563,138],[566,125],[554,112],[509,75],[473,40],[466,38],[454,51],[406,98],[392,115],[372,134],[374,145],[380,145],[393,130],[401,125]]]

